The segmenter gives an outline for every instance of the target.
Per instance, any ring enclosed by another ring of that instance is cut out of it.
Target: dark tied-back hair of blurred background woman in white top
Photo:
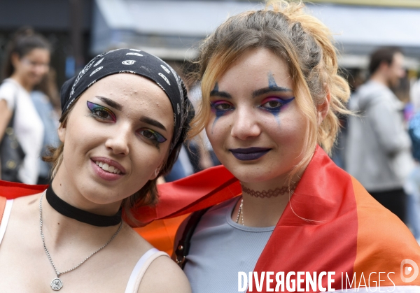
[[[17,54],[19,58],[25,57],[31,50],[45,49],[51,51],[47,39],[37,34],[31,27],[22,27],[13,35],[12,40],[6,47],[6,59],[1,79],[12,76],[15,68],[12,64],[12,55]]]

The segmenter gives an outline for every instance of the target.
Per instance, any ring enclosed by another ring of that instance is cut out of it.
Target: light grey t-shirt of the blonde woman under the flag
[[[274,230],[274,226],[255,228],[233,222],[238,200],[211,208],[195,229],[184,268],[193,293],[238,292],[238,272],[253,271]]]

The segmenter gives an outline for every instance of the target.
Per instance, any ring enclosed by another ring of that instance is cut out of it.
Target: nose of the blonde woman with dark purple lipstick
[[[261,129],[251,109],[237,108],[230,134],[242,140],[259,136]]]

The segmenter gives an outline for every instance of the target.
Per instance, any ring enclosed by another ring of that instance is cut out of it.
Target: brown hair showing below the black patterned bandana
[[[187,97],[187,93],[185,88],[183,88],[184,91],[184,97]],[[77,98],[78,99],[78,98]],[[75,100],[77,102],[77,99]],[[66,110],[64,113],[62,113],[62,116],[59,119],[60,127],[66,127],[66,122],[69,119],[69,114],[71,113],[71,110],[73,110],[73,107],[76,103],[71,103],[71,106],[68,110]],[[191,120],[191,115],[193,115],[194,111],[193,109],[188,109],[189,118],[188,121]],[[126,220],[129,221],[132,225],[141,225],[143,223],[139,222],[135,219],[134,215],[132,214],[132,208],[139,207],[139,206],[153,206],[156,203],[158,203],[158,187],[156,182],[158,181],[158,178],[160,176],[165,176],[169,171],[171,171],[172,166],[174,166],[176,159],[178,158],[179,151],[181,150],[181,147],[183,145],[183,141],[186,138],[186,133],[190,130],[189,124],[183,126],[183,130],[181,132],[181,137],[179,138],[179,142],[174,145],[174,149],[172,152],[170,152],[167,156],[166,163],[162,166],[160,169],[158,176],[156,176],[153,180],[148,180],[146,185],[141,187],[141,189],[132,194],[132,196],[127,197],[126,199],[123,199],[123,202],[121,203],[121,206],[124,208]],[[48,148],[49,154],[45,157],[43,157],[43,160],[45,162],[52,163],[52,169],[51,169],[51,178],[55,177],[55,174],[57,173],[59,166],[63,162],[63,150],[64,150],[64,143],[60,143],[60,145],[57,148],[50,147]]]

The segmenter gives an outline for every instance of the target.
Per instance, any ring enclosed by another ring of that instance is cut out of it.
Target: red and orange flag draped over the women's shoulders
[[[141,222],[155,220],[137,231],[168,252],[172,250],[176,229],[189,213],[241,194],[238,180],[223,166],[158,188],[160,203],[154,208],[137,208],[134,215]],[[0,182],[0,195],[8,199],[44,189],[45,186]],[[335,290],[378,284],[420,285],[420,276],[410,283],[403,280],[400,268],[405,259],[420,265],[419,245],[405,224],[318,147],[254,271],[258,276],[263,271],[334,271]],[[412,267],[404,277],[418,272]],[[327,287],[326,277],[321,287]],[[262,292],[265,290],[263,286]]]

